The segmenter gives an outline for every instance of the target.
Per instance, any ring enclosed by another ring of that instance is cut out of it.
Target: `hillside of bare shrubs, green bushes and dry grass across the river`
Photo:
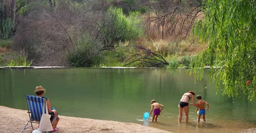
[[[202,1],[2,0],[0,66],[189,66]]]

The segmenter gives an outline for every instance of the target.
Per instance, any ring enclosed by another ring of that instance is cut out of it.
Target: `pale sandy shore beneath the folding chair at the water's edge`
[[[55,133],[171,133],[136,123],[61,116]],[[20,133],[28,121],[25,110],[0,106],[0,133]],[[35,127],[37,124],[33,124]],[[31,133],[28,128],[24,133]]]

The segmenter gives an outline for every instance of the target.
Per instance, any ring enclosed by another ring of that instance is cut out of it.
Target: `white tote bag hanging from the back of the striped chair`
[[[39,131],[41,132],[47,132],[47,131],[52,131],[52,124],[50,121],[51,115],[48,114],[48,108],[47,108],[47,101],[44,99],[44,106],[43,106],[43,114],[40,120],[39,124]],[[45,107],[46,106],[46,107]],[[44,114],[44,107],[46,108],[46,114]]]

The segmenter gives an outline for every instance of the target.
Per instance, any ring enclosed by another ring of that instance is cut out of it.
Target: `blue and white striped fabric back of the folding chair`
[[[43,114],[44,98],[26,95],[28,100],[28,107],[31,112],[31,119],[40,121]],[[44,108],[46,113],[46,107]]]

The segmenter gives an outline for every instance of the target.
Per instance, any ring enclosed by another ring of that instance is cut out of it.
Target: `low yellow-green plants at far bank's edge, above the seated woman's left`
[[[18,57],[16,59],[11,59],[7,66],[30,66],[32,62],[29,63],[27,57]]]

